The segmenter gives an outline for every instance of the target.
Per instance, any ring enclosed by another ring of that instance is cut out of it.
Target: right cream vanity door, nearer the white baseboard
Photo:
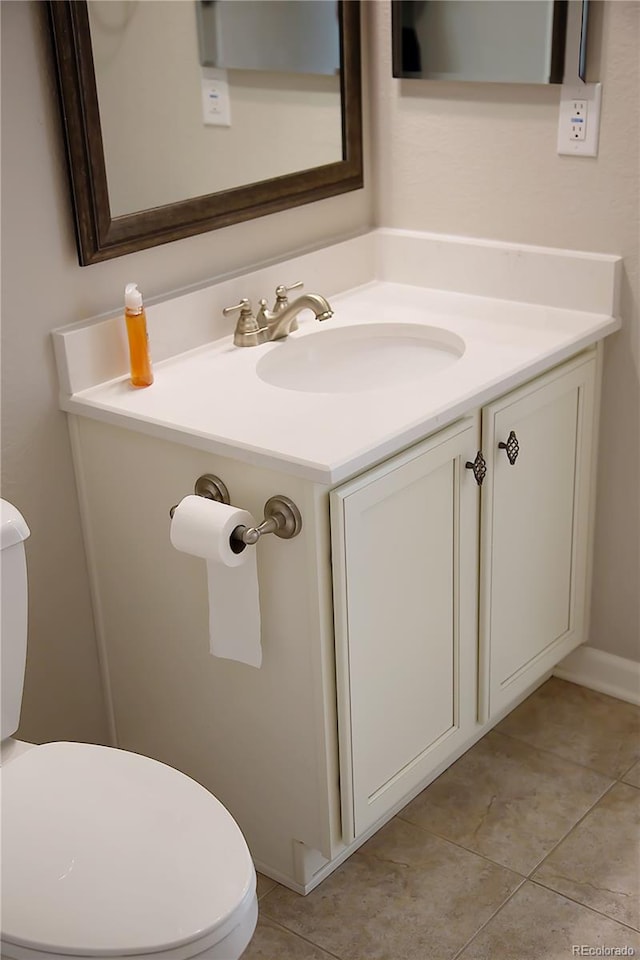
[[[595,369],[583,357],[483,411],[480,720],[585,639]],[[499,447],[510,435],[518,450]]]

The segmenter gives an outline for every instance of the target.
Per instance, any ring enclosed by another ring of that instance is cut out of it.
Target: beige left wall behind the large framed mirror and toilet
[[[371,191],[79,267],[46,6],[3,0],[2,496],[23,511],[30,633],[20,735],[104,740],[86,561],[50,331],[370,226]],[[367,174],[368,176],[368,174]],[[370,177],[368,177],[370,180]],[[287,278],[283,278],[286,280]],[[295,278],[294,278],[295,279]]]

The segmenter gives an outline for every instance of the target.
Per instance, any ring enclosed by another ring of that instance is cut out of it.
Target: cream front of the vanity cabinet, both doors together
[[[331,493],[345,840],[585,639],[595,378],[590,352]]]

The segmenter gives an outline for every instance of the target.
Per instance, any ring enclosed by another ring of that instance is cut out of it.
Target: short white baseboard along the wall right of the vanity
[[[561,660],[553,675],[640,705],[640,663],[635,660],[582,646]]]

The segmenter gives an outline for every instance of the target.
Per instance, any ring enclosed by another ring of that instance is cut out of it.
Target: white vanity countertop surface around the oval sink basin
[[[149,388],[135,389],[128,377],[118,377],[63,396],[61,405],[70,413],[335,484],[620,327],[617,317],[604,313],[385,280],[331,295],[330,301],[331,320],[319,324],[305,311],[290,339],[371,321],[422,323],[462,337],[465,352],[424,381],[309,393],[270,386],[255,372],[260,357],[286,350],[289,341],[239,348],[224,337],[156,363]]]

